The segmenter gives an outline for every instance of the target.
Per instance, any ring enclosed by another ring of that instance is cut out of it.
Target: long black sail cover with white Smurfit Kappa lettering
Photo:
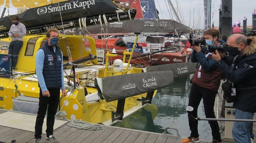
[[[27,34],[38,34],[51,28],[70,29],[80,25],[86,27],[105,22],[129,20],[133,19],[135,14],[136,10],[121,11],[112,0],[69,0],[30,8],[17,16],[26,26]],[[84,20],[81,21],[81,18]],[[8,35],[11,25],[12,19],[0,18],[0,38]]]

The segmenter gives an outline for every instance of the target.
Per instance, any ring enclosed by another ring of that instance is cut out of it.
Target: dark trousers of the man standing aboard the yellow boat
[[[8,54],[11,55],[11,67],[15,68],[23,41],[12,41],[9,45]]]

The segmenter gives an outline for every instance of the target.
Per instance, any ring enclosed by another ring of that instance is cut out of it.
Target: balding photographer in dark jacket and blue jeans
[[[216,51],[213,59],[223,76],[232,82],[232,96],[236,96],[235,119],[253,119],[256,112],[256,37],[233,34],[228,37],[227,54],[234,57],[228,66]],[[251,143],[250,122],[234,122],[232,135],[235,143]]]

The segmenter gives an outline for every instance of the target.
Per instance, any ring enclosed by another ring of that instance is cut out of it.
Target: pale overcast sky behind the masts
[[[155,0],[156,8],[160,12],[160,19],[171,19],[171,16],[168,12],[170,10],[169,6],[167,8],[166,3],[168,0]],[[194,9],[194,28],[203,28],[203,19],[204,19],[204,6],[203,0],[171,0],[174,7],[177,8],[176,2],[180,3],[180,10],[183,13],[184,21],[187,26],[193,27],[193,9]],[[214,26],[219,25],[219,8],[221,0],[212,0],[212,11]],[[2,13],[2,9],[0,9]],[[252,12],[256,9],[256,0],[233,0],[233,18],[232,23],[241,21],[243,25],[243,17],[247,17],[247,25],[252,25]],[[191,16],[190,16],[191,11]],[[7,13],[7,12],[6,12]],[[10,9],[10,15],[16,14],[17,9]],[[191,18],[190,18],[191,17]],[[200,20],[199,20],[200,17]],[[173,15],[173,19],[175,19]],[[190,21],[190,25],[189,25]],[[199,23],[200,21],[200,23]],[[212,23],[211,23],[212,24]]]

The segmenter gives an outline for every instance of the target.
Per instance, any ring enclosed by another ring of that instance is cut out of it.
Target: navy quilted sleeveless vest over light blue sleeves
[[[56,46],[55,52],[47,43],[40,49],[45,54],[43,62],[43,78],[47,89],[61,88],[62,86],[62,52]]]

